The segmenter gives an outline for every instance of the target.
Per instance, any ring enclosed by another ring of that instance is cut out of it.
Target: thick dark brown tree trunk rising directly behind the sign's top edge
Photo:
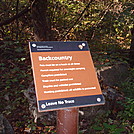
[[[48,5],[48,0],[35,0],[32,5],[31,14],[36,41],[51,41],[53,39]]]

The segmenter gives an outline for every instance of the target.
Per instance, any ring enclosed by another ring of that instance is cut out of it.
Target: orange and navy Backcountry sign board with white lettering
[[[104,104],[87,42],[30,42],[40,112]]]

